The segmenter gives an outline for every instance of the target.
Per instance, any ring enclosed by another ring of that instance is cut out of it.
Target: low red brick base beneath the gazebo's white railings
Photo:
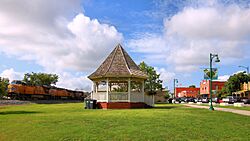
[[[143,102],[98,102],[100,109],[132,109],[132,108],[149,108],[151,106]]]

